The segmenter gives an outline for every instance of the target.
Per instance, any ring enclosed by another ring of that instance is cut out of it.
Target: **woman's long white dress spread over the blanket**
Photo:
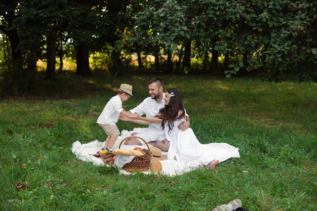
[[[194,165],[209,164],[212,160],[225,161],[231,157],[240,157],[239,149],[226,143],[201,144],[191,128],[186,131],[178,129],[178,125],[185,121],[174,121],[173,130],[169,131],[168,123],[165,124],[165,134],[170,141],[168,159],[190,162]]]

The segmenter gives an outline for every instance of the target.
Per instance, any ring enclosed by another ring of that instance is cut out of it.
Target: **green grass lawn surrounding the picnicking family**
[[[96,120],[120,83],[133,85],[126,109],[140,103],[154,75],[58,75],[36,96],[0,102],[0,210],[212,210],[240,198],[251,210],[317,209],[317,85],[257,78],[160,76],[181,91],[202,143],[239,147],[241,158],[214,171],[123,176],[82,162],[76,140],[104,140]],[[118,122],[120,130],[139,126]],[[25,167],[26,166],[26,167]],[[17,191],[17,183],[28,183]]]

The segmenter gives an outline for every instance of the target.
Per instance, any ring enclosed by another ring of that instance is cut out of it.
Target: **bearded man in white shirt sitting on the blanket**
[[[163,92],[163,84],[160,78],[152,78],[148,82],[148,94],[150,97],[145,98],[137,107],[131,109],[131,113],[138,113],[140,115],[145,114],[146,117],[153,117],[155,114],[159,113],[160,109],[165,106],[165,93]],[[121,116],[120,119],[145,124],[145,122],[140,122],[140,120],[129,119],[124,116]],[[185,131],[189,128],[189,125],[189,117],[187,116],[186,122],[179,125],[179,130]],[[131,135],[134,136],[136,134]],[[165,132],[162,130],[160,123],[150,123],[148,128],[141,133],[138,133],[137,136],[162,151],[167,152],[169,150],[170,142],[166,139]],[[142,145],[141,141],[137,138],[129,138],[124,144]]]

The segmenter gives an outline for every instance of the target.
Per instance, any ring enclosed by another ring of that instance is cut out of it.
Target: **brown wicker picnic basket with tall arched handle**
[[[150,147],[148,146],[148,144],[146,143],[146,141],[144,139],[137,137],[137,136],[126,137],[124,140],[121,141],[118,148],[120,149],[122,143],[129,138],[137,138],[137,139],[142,140],[146,144],[148,152],[144,155],[136,155],[133,158],[133,160],[129,163],[126,163],[122,167],[122,169],[127,171],[127,172],[130,172],[130,173],[147,172],[148,168],[150,167],[151,161],[152,161],[152,154],[150,151]]]

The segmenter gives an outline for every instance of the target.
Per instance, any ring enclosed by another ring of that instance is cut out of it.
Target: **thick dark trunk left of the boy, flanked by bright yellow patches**
[[[81,44],[76,48],[76,75],[91,75],[89,67],[89,50],[88,46]]]

